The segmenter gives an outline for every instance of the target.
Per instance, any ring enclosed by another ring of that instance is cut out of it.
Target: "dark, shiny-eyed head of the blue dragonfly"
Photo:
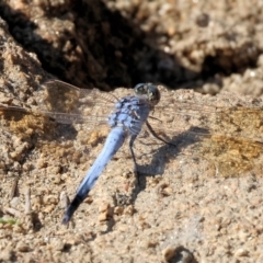
[[[136,96],[147,99],[152,106],[155,106],[161,99],[160,91],[156,84],[152,83],[139,83],[134,88]]]

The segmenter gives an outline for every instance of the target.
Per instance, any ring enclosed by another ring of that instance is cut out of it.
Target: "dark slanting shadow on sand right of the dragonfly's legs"
[[[178,156],[184,155],[183,150],[191,145],[203,140],[209,133],[205,128],[191,127],[190,129],[173,136],[167,145],[158,148],[152,155],[151,162],[148,165],[138,164],[139,181],[142,188],[146,187],[146,178],[162,175],[165,172],[165,165]],[[185,156],[185,158],[187,158]]]

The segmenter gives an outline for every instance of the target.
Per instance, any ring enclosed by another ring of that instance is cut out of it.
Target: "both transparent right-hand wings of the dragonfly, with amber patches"
[[[261,167],[263,133],[261,107],[222,106],[216,98],[199,103],[198,94],[163,91],[149,123],[156,133],[176,145],[176,155],[209,160],[222,176],[239,175]],[[221,101],[221,100],[220,100]],[[228,98],[235,102],[233,98]],[[162,128],[159,128],[162,127]]]

